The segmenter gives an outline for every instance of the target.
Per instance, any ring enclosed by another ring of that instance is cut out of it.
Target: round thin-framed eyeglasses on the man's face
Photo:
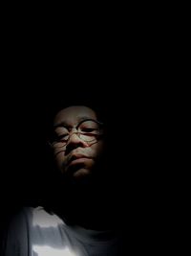
[[[103,134],[102,126],[102,123],[94,119],[86,119],[77,124],[75,127],[77,131],[70,133],[67,127],[58,125],[54,127],[49,144],[54,149],[62,148],[62,151],[65,151],[71,136],[74,134],[89,145],[94,144]]]

